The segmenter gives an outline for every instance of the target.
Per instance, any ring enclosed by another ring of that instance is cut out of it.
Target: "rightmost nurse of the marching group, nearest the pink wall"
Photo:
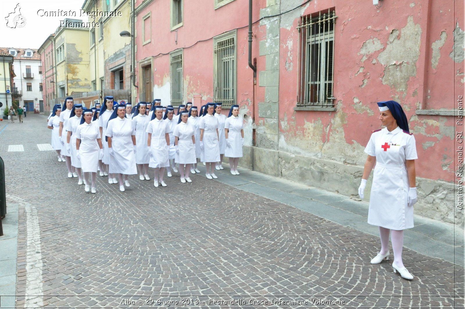
[[[242,157],[244,145],[244,121],[239,117],[239,105],[233,105],[229,110],[229,117],[225,121],[226,148],[225,155],[229,157],[231,174],[239,175],[237,166]]]

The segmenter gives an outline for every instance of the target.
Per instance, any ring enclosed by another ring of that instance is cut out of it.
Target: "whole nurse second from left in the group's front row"
[[[129,187],[128,175],[137,174],[136,168],[136,132],[133,122],[126,118],[126,106],[118,105],[106,126],[108,154],[110,155],[109,172],[118,174],[120,191]],[[124,185],[123,185],[124,176]]]

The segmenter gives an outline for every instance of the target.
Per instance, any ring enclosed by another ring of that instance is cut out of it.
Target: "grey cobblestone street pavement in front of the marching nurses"
[[[201,175],[125,192],[97,176],[86,193],[39,150],[50,134],[42,115],[0,124],[17,308],[464,307],[463,268],[405,250],[404,280],[370,264],[378,238]]]

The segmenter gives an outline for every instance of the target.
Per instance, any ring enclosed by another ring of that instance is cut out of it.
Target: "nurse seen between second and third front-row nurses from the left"
[[[147,103],[144,101],[139,102],[136,105],[136,109],[133,114],[133,129],[136,131],[136,163],[139,169],[140,180],[150,180],[148,175],[148,163],[150,157],[147,151],[147,139],[148,134],[146,132],[148,126],[148,116],[146,115]]]

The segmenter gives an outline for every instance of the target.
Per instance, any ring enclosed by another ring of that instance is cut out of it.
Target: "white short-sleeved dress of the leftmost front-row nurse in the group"
[[[73,134],[74,135],[74,134]],[[91,121],[87,124],[80,124],[76,130],[76,138],[81,140],[79,145],[79,155],[81,157],[81,167],[83,172],[97,172],[99,164],[99,144],[100,128],[97,122]]]

